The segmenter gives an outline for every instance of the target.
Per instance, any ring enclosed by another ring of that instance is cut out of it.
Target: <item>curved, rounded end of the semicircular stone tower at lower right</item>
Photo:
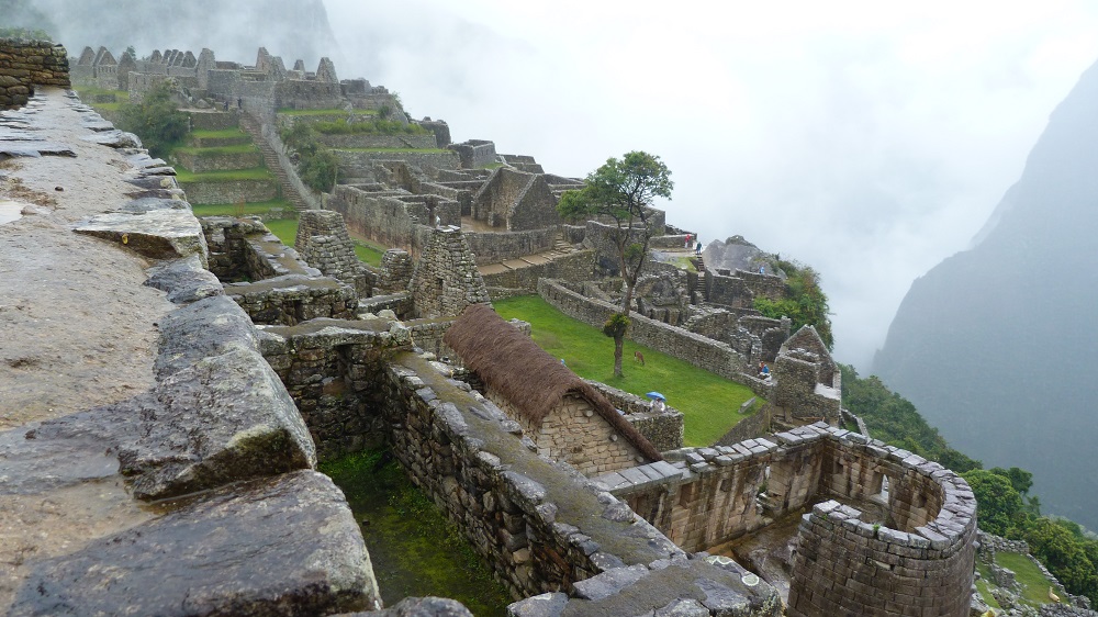
[[[834,464],[840,458],[866,470],[869,498],[886,501],[889,526],[834,501],[817,504],[800,524],[787,615],[968,615],[976,536],[968,484],[879,442],[837,452]],[[874,495],[881,476],[887,489]]]

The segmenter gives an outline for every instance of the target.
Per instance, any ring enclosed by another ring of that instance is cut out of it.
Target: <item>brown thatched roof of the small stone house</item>
[[[641,455],[653,461],[662,460],[651,441],[621,417],[597,390],[538,347],[530,337],[504,322],[488,304],[466,307],[442,341],[533,426],[540,427],[565,395],[576,394],[590,401],[595,412]]]

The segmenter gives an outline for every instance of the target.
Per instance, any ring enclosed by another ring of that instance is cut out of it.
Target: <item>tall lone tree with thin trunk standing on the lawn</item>
[[[557,205],[560,215],[569,221],[590,217],[614,221],[615,229],[610,239],[617,253],[626,292],[621,300],[621,311],[606,322],[603,332],[614,338],[616,377],[623,377],[621,350],[625,347],[625,333],[629,327],[632,294],[653,235],[649,207],[658,197],[671,199],[673,188],[671,171],[660,157],[631,152],[621,159],[607,159],[606,164],[587,175],[583,189],[567,191]]]

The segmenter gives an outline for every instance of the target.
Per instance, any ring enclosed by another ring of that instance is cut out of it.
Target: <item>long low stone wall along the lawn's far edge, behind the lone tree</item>
[[[619,311],[618,306],[601,300],[584,298],[549,279],[538,281],[538,295],[549,304],[560,308],[565,315],[598,328],[602,328],[610,315]],[[674,356],[725,379],[741,381],[741,373],[747,367],[747,360],[728,344],[641,315],[632,314],[630,318],[632,325],[626,334],[630,340],[660,349],[669,356]]]

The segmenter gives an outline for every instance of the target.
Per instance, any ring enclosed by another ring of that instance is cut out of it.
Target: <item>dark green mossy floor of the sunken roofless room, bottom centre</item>
[[[320,470],[347,495],[386,605],[433,595],[455,598],[479,617],[506,614],[506,591],[386,451],[325,461]]]

